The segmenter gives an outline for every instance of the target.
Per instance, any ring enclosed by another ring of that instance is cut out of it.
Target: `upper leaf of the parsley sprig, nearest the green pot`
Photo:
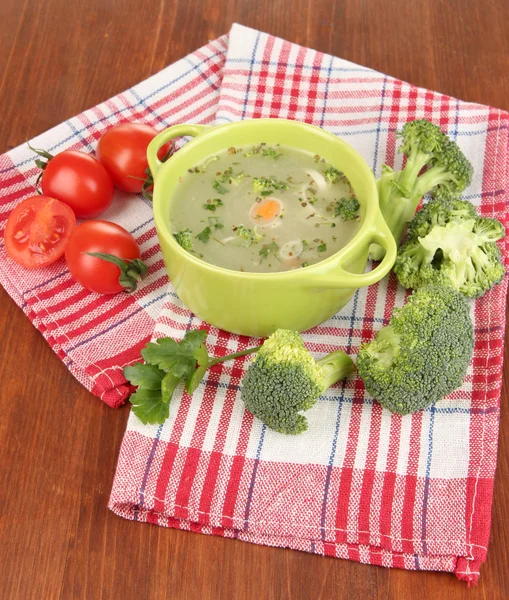
[[[188,331],[180,343],[171,338],[160,338],[156,342],[149,342],[141,355],[145,362],[156,365],[175,377],[186,378],[193,374],[196,367],[194,352],[206,337],[206,331],[194,329]]]

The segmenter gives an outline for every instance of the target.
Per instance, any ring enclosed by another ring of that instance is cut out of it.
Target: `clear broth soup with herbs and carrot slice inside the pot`
[[[177,242],[208,263],[281,272],[345,246],[359,228],[359,203],[345,175],[320,156],[262,143],[189,169],[169,217]]]

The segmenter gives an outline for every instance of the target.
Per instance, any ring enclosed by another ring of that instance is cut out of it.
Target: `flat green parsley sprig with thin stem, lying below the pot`
[[[210,367],[261,348],[256,346],[211,358],[205,346],[206,337],[206,331],[195,329],[186,332],[180,342],[171,338],[149,342],[141,351],[145,362],[124,368],[124,377],[138,387],[130,398],[133,412],[145,425],[166,421],[173,392],[180,383],[192,394]]]

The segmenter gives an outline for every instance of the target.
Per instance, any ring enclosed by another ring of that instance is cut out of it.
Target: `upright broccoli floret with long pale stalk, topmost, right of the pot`
[[[441,199],[457,197],[472,181],[472,165],[456,142],[426,119],[406,123],[397,136],[406,164],[401,171],[384,165],[377,188],[380,209],[399,244],[421,198],[428,193]],[[381,246],[371,246],[374,260],[384,254]]]

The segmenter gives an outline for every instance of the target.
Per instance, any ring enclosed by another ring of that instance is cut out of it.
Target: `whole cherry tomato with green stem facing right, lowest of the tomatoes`
[[[85,252],[112,254],[124,260],[140,258],[136,240],[120,225],[109,221],[78,225],[65,249],[67,267],[78,283],[98,294],[117,294],[125,289],[119,283],[120,268]]]

